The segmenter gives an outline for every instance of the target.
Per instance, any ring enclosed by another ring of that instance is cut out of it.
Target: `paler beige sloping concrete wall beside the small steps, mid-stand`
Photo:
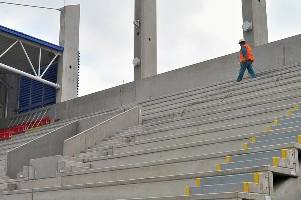
[[[64,141],[64,155],[73,157],[95,142],[102,141],[110,135],[116,134],[124,128],[142,124],[141,106],[129,109],[105,122],[100,123],[82,133],[79,133]]]

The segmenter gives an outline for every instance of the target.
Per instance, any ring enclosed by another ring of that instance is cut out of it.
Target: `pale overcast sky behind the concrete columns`
[[[0,0],[80,4],[79,96],[134,80],[134,0]],[[255,0],[252,0],[255,1]],[[269,42],[301,34],[300,0],[266,0]],[[60,12],[0,3],[0,25],[58,45]],[[157,0],[157,74],[240,50],[241,0]]]

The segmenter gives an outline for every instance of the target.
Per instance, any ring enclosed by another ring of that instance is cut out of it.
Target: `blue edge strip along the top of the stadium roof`
[[[0,25],[0,31],[6,32],[6,33],[11,34],[11,35],[15,35],[15,36],[17,36],[17,37],[20,37],[20,38],[29,40],[29,41],[31,41],[31,42],[38,43],[38,44],[40,44],[40,45],[43,45],[43,46],[46,46],[46,47],[55,49],[55,50],[57,50],[57,51],[64,51],[64,47],[62,47],[62,46],[54,45],[54,44],[52,44],[52,43],[50,43],[50,42],[46,42],[46,41],[44,41],[44,40],[35,38],[35,37],[33,37],[33,36],[30,36],[30,35],[26,35],[26,34],[24,34],[24,33],[15,31],[15,30],[13,30],[13,29],[6,28],[6,27],[1,26],[1,25]]]

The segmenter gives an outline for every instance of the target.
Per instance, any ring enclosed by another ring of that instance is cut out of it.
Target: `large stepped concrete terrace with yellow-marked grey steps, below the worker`
[[[265,73],[275,79],[221,82],[138,102],[142,125],[116,130],[73,157],[32,159],[20,178],[0,181],[18,191],[0,195],[289,199],[282,187],[299,177],[301,67]]]

